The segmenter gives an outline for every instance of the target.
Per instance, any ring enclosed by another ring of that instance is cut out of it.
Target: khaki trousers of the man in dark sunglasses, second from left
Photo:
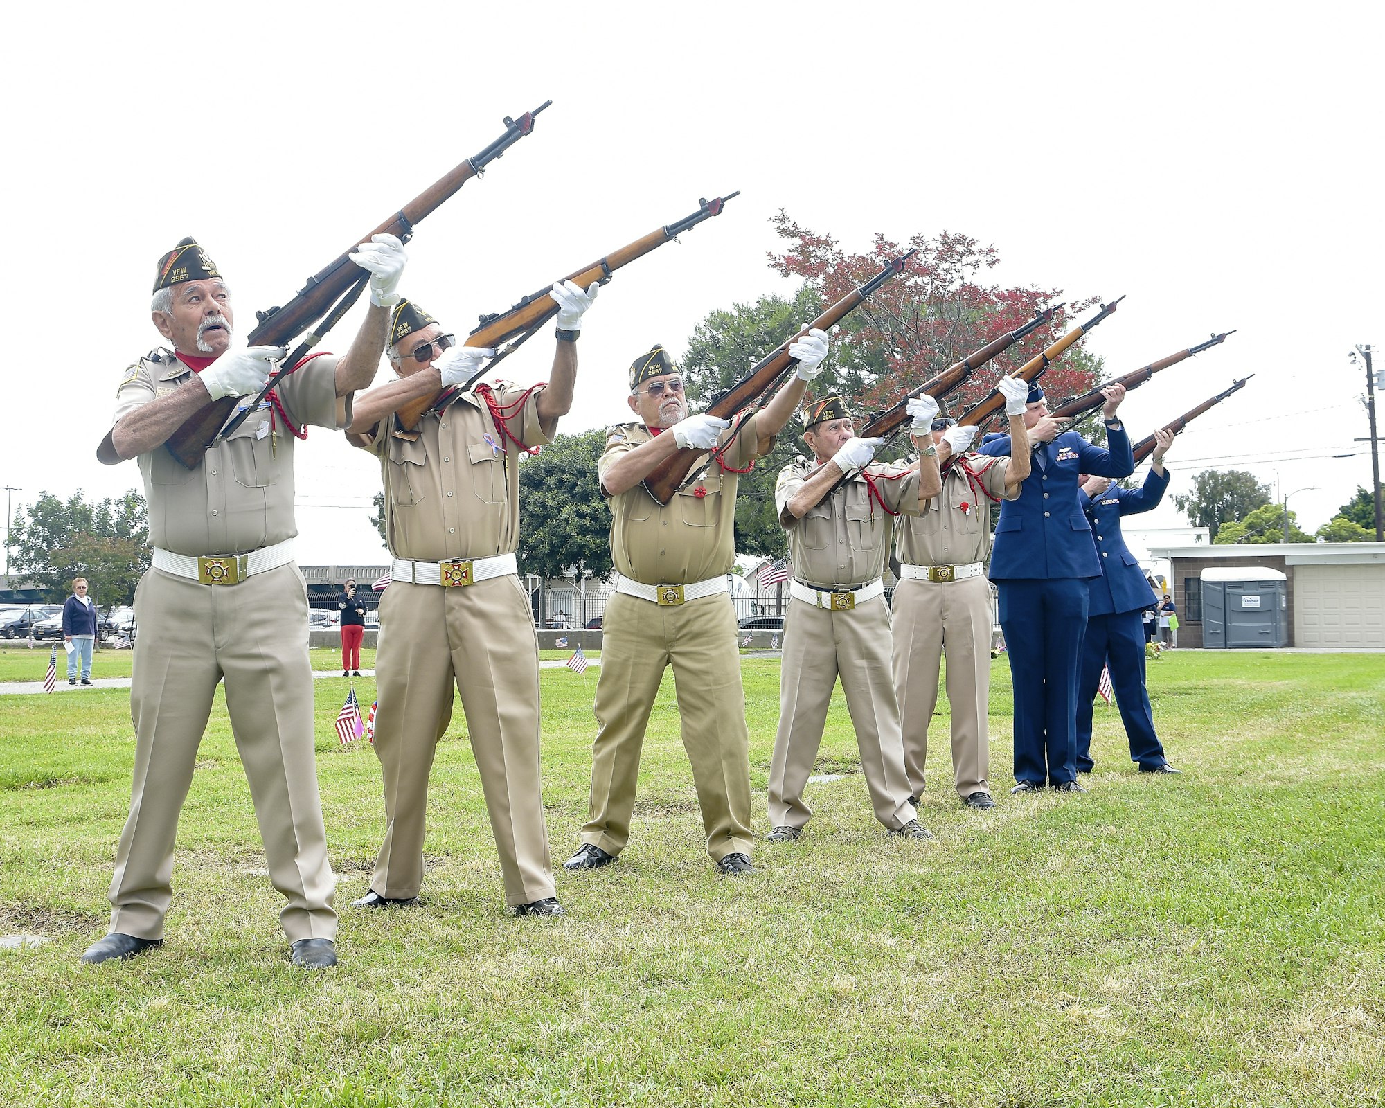
[[[379,601],[375,755],[385,842],[370,886],[407,899],[422,884],[428,774],[461,694],[510,907],[554,895],[539,784],[539,641],[519,579],[463,587],[396,580]]]

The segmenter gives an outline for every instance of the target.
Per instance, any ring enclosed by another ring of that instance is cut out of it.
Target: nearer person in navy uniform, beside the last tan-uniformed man
[[[1043,389],[1029,386],[1025,425],[1036,446],[1035,464],[1019,499],[1000,506],[990,579],[1000,594],[1000,629],[1015,687],[1011,792],[1037,792],[1046,784],[1086,792],[1076,767],[1078,659],[1087,627],[1086,579],[1101,576],[1101,558],[1078,504],[1078,476],[1134,472],[1130,439],[1116,418],[1125,388],[1108,385],[1101,395],[1107,450],[1075,431],[1058,435]],[[979,453],[1007,456],[1010,436],[988,439]]]

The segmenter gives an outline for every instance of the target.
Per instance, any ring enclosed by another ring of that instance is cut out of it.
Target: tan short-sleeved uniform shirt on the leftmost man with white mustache
[[[350,397],[337,396],[337,361],[314,357],[274,386],[295,424],[343,428]],[[125,371],[115,422],[166,396],[193,375],[173,353],[158,350]],[[163,446],[138,457],[150,512],[150,543],[175,554],[244,554],[298,535],[294,519],[294,435],[269,406],[183,468]]]

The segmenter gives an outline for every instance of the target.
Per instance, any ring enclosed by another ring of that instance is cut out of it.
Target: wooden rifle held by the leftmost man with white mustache
[[[435,212],[463,184],[479,176],[490,162],[500,158],[524,136],[532,133],[535,116],[550,104],[553,101],[546,100],[532,112],[525,112],[518,119],[511,119],[507,115],[504,119],[504,134],[496,138],[496,141],[479,154],[467,158],[461,165],[454,166],[449,173],[434,181],[400,208],[393,216],[373,231],[368,231],[363,238],[356,240],[350,249],[338,255],[332,262],[309,277],[294,299],[283,307],[276,306],[267,312],[256,312],[255,316],[259,320],[259,325],[249,332],[245,343],[248,346],[287,346],[295,337],[303,334],[327,314],[332,301],[338,296],[349,295],[353,285],[357,285],[360,281],[364,270],[350,260],[350,253],[356,247],[370,242],[371,237],[377,234],[393,234],[407,242],[413,237],[416,223]],[[285,360],[284,364],[289,367],[289,371],[320,339],[321,335],[307,337],[302,346]],[[283,373],[284,370],[276,374],[276,378],[283,375]],[[267,384],[265,392],[269,392],[271,386],[271,382]],[[260,399],[263,399],[263,393]],[[235,411],[240,400],[241,397],[238,396],[223,396],[220,400],[208,400],[205,407],[199,409],[169,436],[166,443],[169,453],[186,468],[195,468],[202,461],[202,456],[216,438],[216,434],[231,417],[231,413]]]

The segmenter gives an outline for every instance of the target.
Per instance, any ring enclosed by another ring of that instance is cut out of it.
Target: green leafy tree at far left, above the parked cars
[[[100,604],[129,604],[150,566],[150,526],[144,497],[125,496],[89,504],[78,489],[68,500],[40,493],[28,511],[15,512],[11,564],[30,578],[48,601],[62,600],[72,579],[87,579]]]

